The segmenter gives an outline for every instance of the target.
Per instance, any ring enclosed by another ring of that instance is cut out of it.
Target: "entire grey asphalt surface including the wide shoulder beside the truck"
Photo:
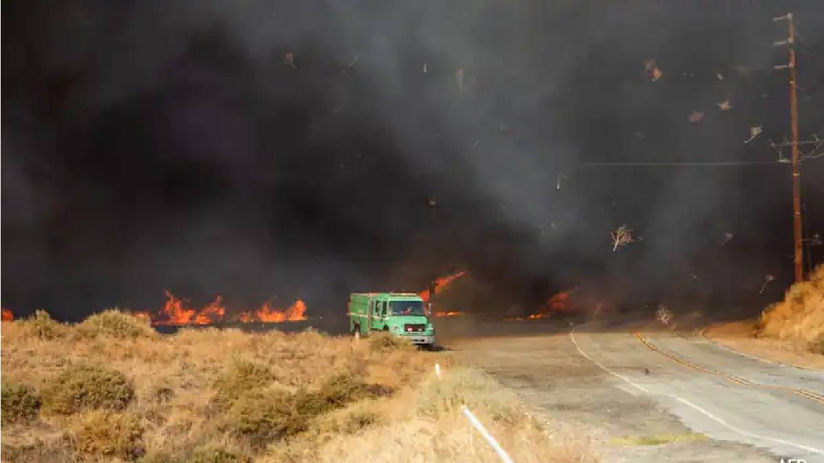
[[[445,344],[548,421],[594,435],[606,461],[824,463],[824,372],[734,353],[698,334],[563,322]]]

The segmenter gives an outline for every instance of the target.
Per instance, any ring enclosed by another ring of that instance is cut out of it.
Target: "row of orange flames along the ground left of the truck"
[[[226,317],[226,307],[222,305],[222,297],[218,295],[214,301],[201,309],[189,306],[188,301],[176,297],[166,291],[166,303],[160,311],[133,311],[133,316],[145,318],[152,325],[180,326],[180,325],[213,325],[222,321],[240,321],[241,323],[265,322],[280,323],[283,321],[306,320],[306,303],[298,299],[291,306],[279,310],[264,302],[257,309],[242,311],[236,316]]]

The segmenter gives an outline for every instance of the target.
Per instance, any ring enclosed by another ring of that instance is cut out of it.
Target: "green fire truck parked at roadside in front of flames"
[[[435,343],[435,329],[426,304],[414,292],[353,292],[348,312],[353,335],[388,331],[412,344],[432,347]]]

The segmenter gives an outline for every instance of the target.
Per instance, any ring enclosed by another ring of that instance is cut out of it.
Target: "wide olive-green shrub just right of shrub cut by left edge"
[[[134,388],[123,373],[77,364],[52,378],[42,396],[49,413],[73,414],[82,409],[124,409],[134,396]]]

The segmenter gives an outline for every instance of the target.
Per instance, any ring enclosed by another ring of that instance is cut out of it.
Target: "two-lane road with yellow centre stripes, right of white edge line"
[[[824,373],[747,358],[697,336],[642,336],[646,344],[633,333],[576,330],[570,340],[696,433],[824,461],[824,400],[815,398],[824,397]]]

